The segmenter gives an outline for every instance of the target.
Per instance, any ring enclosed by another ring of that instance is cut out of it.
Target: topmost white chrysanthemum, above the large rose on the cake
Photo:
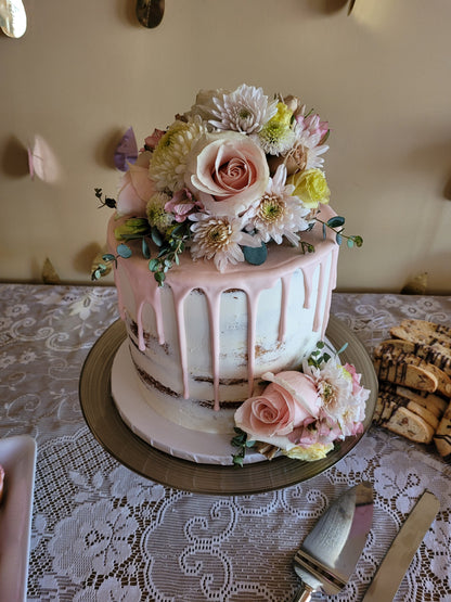
[[[243,84],[234,92],[212,99],[216,119],[209,123],[220,130],[233,130],[242,133],[254,133],[276,113],[278,101],[268,101],[261,88]]]

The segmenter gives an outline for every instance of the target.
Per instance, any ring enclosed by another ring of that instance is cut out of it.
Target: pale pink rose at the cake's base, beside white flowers
[[[281,445],[294,428],[318,415],[320,398],[313,380],[301,372],[287,371],[262,376],[272,382],[262,395],[252,397],[235,412],[235,424],[250,439]]]

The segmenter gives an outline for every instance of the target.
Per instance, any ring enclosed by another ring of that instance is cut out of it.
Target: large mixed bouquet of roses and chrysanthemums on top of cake
[[[159,285],[185,249],[221,272],[229,264],[262,264],[270,242],[314,251],[300,233],[321,221],[319,207],[330,200],[323,170],[328,132],[327,123],[292,95],[270,99],[244,84],[231,92],[201,91],[191,111],[145,139],[117,201],[95,189],[101,204],[124,219],[115,230],[117,255],[103,255],[92,279],[117,257],[129,257],[137,239]],[[322,223],[324,233],[335,230],[338,244],[361,246],[361,236],[344,234],[343,217]]]

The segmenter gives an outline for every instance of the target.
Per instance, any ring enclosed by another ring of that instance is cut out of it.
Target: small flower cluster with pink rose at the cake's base
[[[269,459],[281,452],[320,460],[335,441],[363,432],[370,390],[352,364],[342,366],[342,350],[332,357],[323,349],[321,342],[299,371],[262,375],[268,383],[262,394],[244,401],[234,415],[235,464],[243,464],[248,448]]]

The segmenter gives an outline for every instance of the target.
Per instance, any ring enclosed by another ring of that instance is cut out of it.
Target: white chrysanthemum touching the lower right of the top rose
[[[257,236],[262,242],[271,239],[278,244],[282,243],[282,238],[297,246],[299,236],[296,232],[307,230],[309,222],[305,217],[309,214],[297,196],[292,196],[294,185],[285,184],[286,167],[280,165],[274,177],[269,180],[263,196],[254,204],[246,214],[249,223],[248,231],[256,230]]]

